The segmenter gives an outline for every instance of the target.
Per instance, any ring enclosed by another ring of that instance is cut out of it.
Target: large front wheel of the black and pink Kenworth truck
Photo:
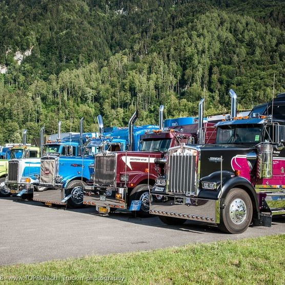
[[[240,234],[249,227],[253,209],[249,194],[240,188],[233,188],[223,201],[220,210],[219,229],[225,233]]]

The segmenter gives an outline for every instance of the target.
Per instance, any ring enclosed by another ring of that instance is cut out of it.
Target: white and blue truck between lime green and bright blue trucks
[[[60,125],[58,122],[58,137],[57,140],[48,140],[44,143],[45,128],[40,130],[40,142],[38,147],[14,147],[11,159],[8,161],[8,176],[6,177],[6,196],[16,194],[22,198],[32,197],[33,182],[40,172],[40,157],[46,154],[57,155],[78,155],[78,142],[72,141],[70,137],[60,138]],[[26,145],[26,142],[25,144]],[[15,151],[18,150],[18,151]],[[29,152],[29,153],[28,153]],[[34,152],[31,155],[31,152]],[[36,191],[44,191],[46,188],[36,187]]]

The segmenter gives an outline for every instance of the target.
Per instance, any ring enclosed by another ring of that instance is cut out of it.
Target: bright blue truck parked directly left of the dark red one
[[[107,151],[126,151],[133,145],[139,150],[140,136],[158,126],[134,126],[138,117],[136,111],[124,128],[106,128],[103,119],[97,116],[99,135],[96,137],[83,135],[80,131],[78,139],[79,155],[74,157],[46,155],[40,161],[40,175],[34,182],[33,200],[45,203],[47,206],[66,205],[71,208],[83,206],[83,187],[86,181],[94,175],[94,154]],[[80,129],[82,130],[82,128]],[[39,187],[46,187],[42,192],[35,191]]]

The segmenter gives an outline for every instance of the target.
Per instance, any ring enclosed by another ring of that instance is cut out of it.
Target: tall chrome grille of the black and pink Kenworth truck
[[[168,192],[195,194],[196,155],[175,152],[168,158]]]

